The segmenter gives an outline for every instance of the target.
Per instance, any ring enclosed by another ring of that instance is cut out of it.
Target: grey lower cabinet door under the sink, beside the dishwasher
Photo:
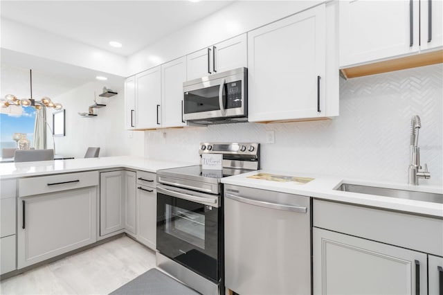
[[[427,294],[424,253],[317,228],[313,248],[314,294]]]

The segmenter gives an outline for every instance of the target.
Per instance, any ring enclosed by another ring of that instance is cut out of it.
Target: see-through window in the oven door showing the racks
[[[205,249],[205,215],[165,204],[165,232]]]

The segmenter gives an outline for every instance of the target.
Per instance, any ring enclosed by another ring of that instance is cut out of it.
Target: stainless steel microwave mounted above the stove
[[[183,119],[193,123],[248,120],[248,70],[234,69],[183,82]]]

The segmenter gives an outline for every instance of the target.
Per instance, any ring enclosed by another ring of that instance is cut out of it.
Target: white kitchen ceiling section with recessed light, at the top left
[[[2,0],[0,15],[127,56],[232,2]],[[113,48],[109,41],[123,47]]]

